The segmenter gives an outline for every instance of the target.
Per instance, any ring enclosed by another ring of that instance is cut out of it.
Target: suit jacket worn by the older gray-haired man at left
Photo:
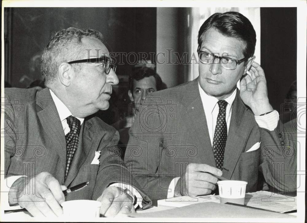
[[[89,182],[82,190],[68,194],[66,200],[96,200],[111,183],[138,188],[115,147],[118,132],[98,117],[87,117],[81,125],[79,146],[65,179],[65,134],[48,88],[5,89],[4,126],[6,177],[49,172],[67,187]],[[100,164],[91,164],[96,151],[101,151]]]

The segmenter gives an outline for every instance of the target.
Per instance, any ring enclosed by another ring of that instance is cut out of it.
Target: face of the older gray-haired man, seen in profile
[[[90,58],[109,56],[105,45],[95,38],[83,37],[82,45],[81,53],[84,56],[80,59],[87,59],[88,54]],[[111,69],[109,74],[106,74],[102,63],[79,63],[79,65],[81,71],[75,72],[72,69],[71,72],[74,73],[71,85],[68,87],[68,94],[75,101],[78,113],[86,117],[98,110],[107,110],[112,85],[119,83],[115,72]]]

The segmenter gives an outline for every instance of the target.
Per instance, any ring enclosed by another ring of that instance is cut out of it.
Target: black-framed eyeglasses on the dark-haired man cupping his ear
[[[213,53],[207,52],[207,51],[201,51],[197,50],[199,59],[201,63],[204,64],[212,64],[214,63],[215,59],[219,59],[219,62],[221,66],[227,70],[235,70],[237,68],[238,64],[242,63],[244,60],[247,59],[247,57],[244,57],[241,60],[236,60],[227,56],[217,56]]]

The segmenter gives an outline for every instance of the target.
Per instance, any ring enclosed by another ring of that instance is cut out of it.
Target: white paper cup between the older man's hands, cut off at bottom
[[[92,200],[65,201],[63,207],[63,217],[99,217],[101,202]]]

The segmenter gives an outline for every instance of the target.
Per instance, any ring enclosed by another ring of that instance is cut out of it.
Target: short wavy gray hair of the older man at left
[[[41,57],[41,71],[46,85],[56,78],[61,63],[81,59],[81,39],[85,36],[103,42],[103,35],[94,29],[70,27],[52,35]]]

